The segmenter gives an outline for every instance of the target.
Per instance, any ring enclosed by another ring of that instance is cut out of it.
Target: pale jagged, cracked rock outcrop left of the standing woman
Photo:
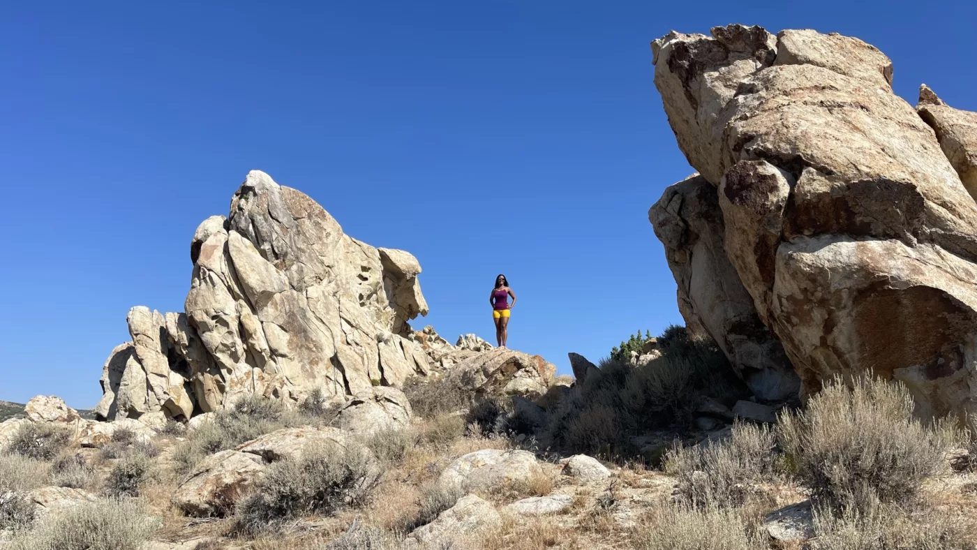
[[[298,402],[399,385],[429,368],[404,338],[428,307],[403,250],[343,233],[305,194],[252,171],[191,241],[186,314],[133,308],[103,368],[102,419],[190,418],[250,394]]]

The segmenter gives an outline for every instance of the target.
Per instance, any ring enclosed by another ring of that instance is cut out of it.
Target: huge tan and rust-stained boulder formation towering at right
[[[734,363],[743,344],[730,337],[771,349],[738,322],[759,319],[805,392],[870,372],[906,382],[924,413],[972,412],[977,203],[957,174],[972,149],[955,152],[972,148],[969,117],[920,106],[941,148],[892,92],[889,59],[856,38],[711,34],[652,45],[669,123],[701,174],[651,213],[683,314]]]

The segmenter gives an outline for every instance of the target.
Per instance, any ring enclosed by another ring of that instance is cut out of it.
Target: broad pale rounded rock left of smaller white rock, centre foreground
[[[486,448],[451,462],[438,478],[438,487],[457,492],[489,492],[528,484],[542,473],[539,461],[529,451]]]

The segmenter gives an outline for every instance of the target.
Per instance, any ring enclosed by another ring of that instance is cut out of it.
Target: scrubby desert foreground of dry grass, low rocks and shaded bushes
[[[774,423],[737,420],[703,434],[691,411],[742,398],[743,387],[711,343],[676,329],[659,342],[662,357],[603,360],[599,375],[538,400],[545,406],[414,380],[405,388],[413,420],[370,433],[333,428],[337,409],[317,394],[294,409],[241,400],[191,429],[167,425],[151,442],[122,428],[79,447],[64,427],[24,424],[0,454],[0,547],[974,548],[977,484],[966,461],[953,472],[947,459],[968,435],[915,418],[904,387],[835,379]],[[234,483],[205,512],[177,505],[178,487],[215,455],[243,456],[234,449],[283,433],[328,438],[260,451],[245,461],[261,469],[253,483],[241,485],[239,468],[225,472]],[[667,442],[654,456],[632,441],[649,433]],[[578,454],[603,465],[580,470]],[[472,478],[485,463],[493,473]],[[44,487],[90,496],[44,512],[35,504]],[[466,502],[483,508],[459,510]],[[776,518],[790,507],[805,512],[785,534]]]

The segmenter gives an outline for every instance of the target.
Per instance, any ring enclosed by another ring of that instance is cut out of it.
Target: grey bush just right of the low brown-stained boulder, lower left
[[[364,504],[379,482],[368,451],[320,445],[296,460],[272,464],[254,494],[237,510],[237,530],[244,534],[279,529],[309,514],[332,514]]]

